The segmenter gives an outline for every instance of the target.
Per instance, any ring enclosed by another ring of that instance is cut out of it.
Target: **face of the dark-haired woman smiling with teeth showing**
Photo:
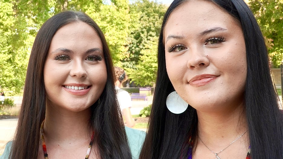
[[[46,106],[79,112],[95,103],[105,87],[102,42],[86,23],[61,27],[51,40],[44,65]]]

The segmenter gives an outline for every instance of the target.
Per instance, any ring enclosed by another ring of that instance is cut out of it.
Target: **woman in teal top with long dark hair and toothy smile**
[[[125,128],[105,37],[82,12],[48,19],[35,38],[15,138],[1,159],[137,158],[145,133]]]

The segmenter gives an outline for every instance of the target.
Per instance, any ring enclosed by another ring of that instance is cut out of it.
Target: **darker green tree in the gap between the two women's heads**
[[[149,0],[130,5],[131,25],[127,58],[122,60],[129,78],[140,86],[152,86],[157,72],[157,41],[166,6]]]

